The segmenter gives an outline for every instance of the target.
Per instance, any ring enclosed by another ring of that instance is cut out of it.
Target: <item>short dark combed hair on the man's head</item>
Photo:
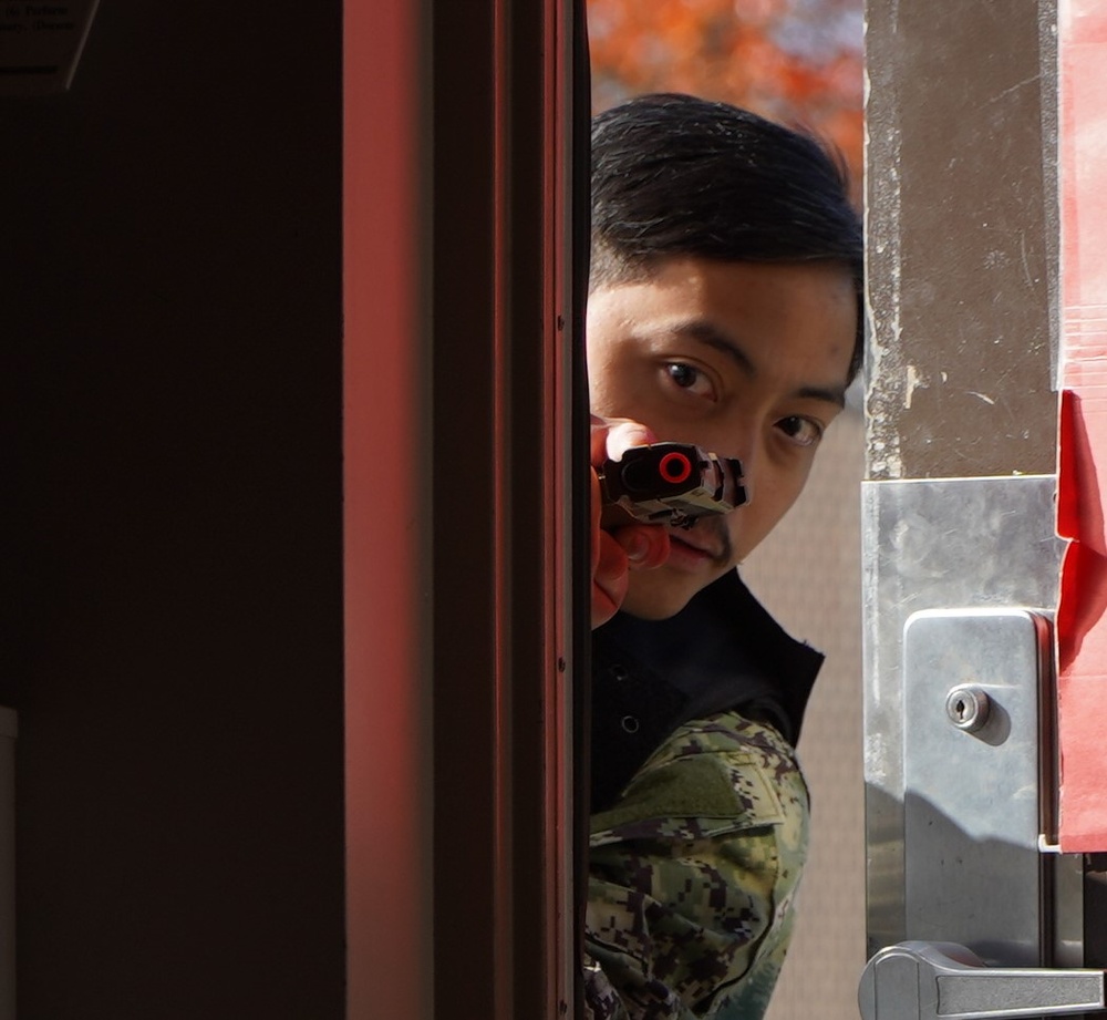
[[[727,103],[644,95],[592,121],[589,287],[679,256],[838,261],[853,277],[863,351],[863,241],[840,154]]]

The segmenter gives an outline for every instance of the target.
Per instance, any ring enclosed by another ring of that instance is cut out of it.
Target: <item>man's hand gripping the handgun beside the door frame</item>
[[[627,524],[600,527],[602,501],[596,468],[618,461],[631,446],[655,443],[656,436],[638,422],[592,415],[592,627],[611,619],[627,597],[631,570],[660,567],[669,558],[669,534],[660,525]]]

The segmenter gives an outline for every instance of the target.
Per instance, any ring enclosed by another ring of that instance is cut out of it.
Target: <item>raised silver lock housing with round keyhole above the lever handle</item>
[[[1052,789],[1041,741],[1049,650],[1047,620],[1028,609],[925,610],[907,621],[909,939],[961,942],[990,964],[1048,961],[1039,834]]]

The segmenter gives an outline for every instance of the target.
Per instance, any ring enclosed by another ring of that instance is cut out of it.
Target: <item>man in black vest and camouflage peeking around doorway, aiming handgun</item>
[[[792,933],[821,656],[736,567],[807,481],[861,362],[861,227],[811,138],[691,96],[592,128],[594,1020],[753,1020]],[[594,467],[653,442],[742,462],[749,503],[600,527]]]

